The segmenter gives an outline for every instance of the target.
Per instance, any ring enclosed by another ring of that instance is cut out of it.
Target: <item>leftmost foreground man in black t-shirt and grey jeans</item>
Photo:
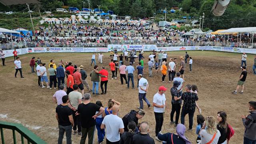
[[[72,110],[68,107],[68,95],[62,97],[63,104],[59,104],[56,107],[56,119],[59,124],[59,138],[58,144],[62,144],[64,132],[66,132],[67,144],[71,144],[72,126],[74,126],[74,120],[72,117]]]

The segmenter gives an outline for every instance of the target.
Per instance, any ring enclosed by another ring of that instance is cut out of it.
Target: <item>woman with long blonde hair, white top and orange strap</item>
[[[199,132],[201,136],[201,144],[218,144],[220,138],[220,131],[217,130],[215,118],[207,116],[206,122]]]

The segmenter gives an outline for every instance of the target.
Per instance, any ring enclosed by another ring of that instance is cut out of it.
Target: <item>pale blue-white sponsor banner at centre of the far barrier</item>
[[[117,50],[117,51],[130,51],[132,49],[136,51],[152,51],[152,50],[158,50],[157,46],[154,44],[108,44],[108,51],[111,50]]]

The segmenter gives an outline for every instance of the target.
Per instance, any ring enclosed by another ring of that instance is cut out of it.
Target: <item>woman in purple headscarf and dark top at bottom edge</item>
[[[158,134],[158,139],[165,141],[166,144],[191,144],[185,136],[186,127],[183,124],[178,124],[176,133]]]

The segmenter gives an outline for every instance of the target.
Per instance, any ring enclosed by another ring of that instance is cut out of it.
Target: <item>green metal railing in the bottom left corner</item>
[[[34,134],[30,130],[28,130],[28,128],[24,127],[22,124],[0,121],[0,131],[1,131],[2,144],[5,144],[3,128],[12,130],[12,137],[13,137],[13,143],[14,144],[16,144],[15,131],[20,133],[22,144],[24,144],[24,138],[27,139],[28,144],[30,144],[30,143],[31,144],[46,144],[46,142],[44,140],[39,138],[36,134]]]

